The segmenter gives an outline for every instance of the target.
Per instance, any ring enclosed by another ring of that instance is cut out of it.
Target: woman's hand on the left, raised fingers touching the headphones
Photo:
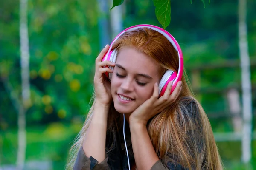
[[[110,82],[107,80],[105,73],[112,73],[113,71],[106,66],[115,66],[115,63],[111,61],[102,61],[108,49],[109,45],[106,45],[95,60],[95,75],[93,80],[96,102],[103,106],[109,106],[112,100]]]

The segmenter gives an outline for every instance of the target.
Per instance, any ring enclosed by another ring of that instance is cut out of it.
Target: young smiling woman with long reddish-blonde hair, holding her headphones
[[[112,44],[116,62],[102,61],[109,45],[97,57],[93,105],[70,150],[67,170],[223,169],[211,125],[186,74],[174,91],[171,81],[159,97],[164,73],[179,71],[179,54],[151,28],[120,35]]]

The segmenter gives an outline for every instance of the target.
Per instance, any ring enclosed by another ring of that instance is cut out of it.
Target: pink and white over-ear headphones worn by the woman
[[[116,63],[116,55],[117,55],[117,50],[114,49],[112,50],[112,45],[113,43],[119,38],[121,37],[123,34],[127,33],[127,32],[131,32],[134,31],[138,28],[151,28],[161,34],[163,34],[164,37],[167,38],[167,40],[169,40],[169,42],[171,42],[171,44],[173,45],[173,47],[175,48],[175,50],[178,52],[178,56],[179,56],[179,70],[176,73],[176,71],[173,70],[167,70],[165,72],[165,74],[163,74],[163,77],[160,80],[158,89],[159,89],[159,97],[163,96],[164,92],[166,91],[167,85],[170,81],[173,81],[172,84],[172,91],[175,89],[177,82],[181,80],[182,74],[183,74],[183,55],[182,55],[182,51],[180,49],[180,45],[178,44],[178,42],[175,40],[174,37],[172,37],[172,35],[167,32],[166,30],[157,27],[157,26],[153,26],[153,25],[148,25],[148,24],[141,24],[141,25],[136,25],[136,26],[131,26],[129,28],[126,28],[125,30],[123,30],[120,34],[118,34],[116,36],[116,38],[111,42],[110,48],[108,50],[108,52],[105,54],[105,56],[103,57],[102,61],[111,61]],[[113,67],[110,67],[113,70]],[[106,74],[106,76],[111,80],[112,74]]]

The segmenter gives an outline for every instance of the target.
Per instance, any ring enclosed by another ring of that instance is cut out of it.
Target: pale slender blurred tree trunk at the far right
[[[250,57],[247,41],[247,0],[239,0],[239,50],[241,60],[241,84],[243,102],[242,161],[247,164],[251,159],[252,136],[252,94],[250,81]]]

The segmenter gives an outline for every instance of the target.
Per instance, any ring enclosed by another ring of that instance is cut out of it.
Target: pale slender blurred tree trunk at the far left
[[[27,22],[27,0],[20,0],[20,66],[22,102],[18,113],[17,170],[22,170],[26,158],[26,109],[30,105],[29,85],[29,36]]]

